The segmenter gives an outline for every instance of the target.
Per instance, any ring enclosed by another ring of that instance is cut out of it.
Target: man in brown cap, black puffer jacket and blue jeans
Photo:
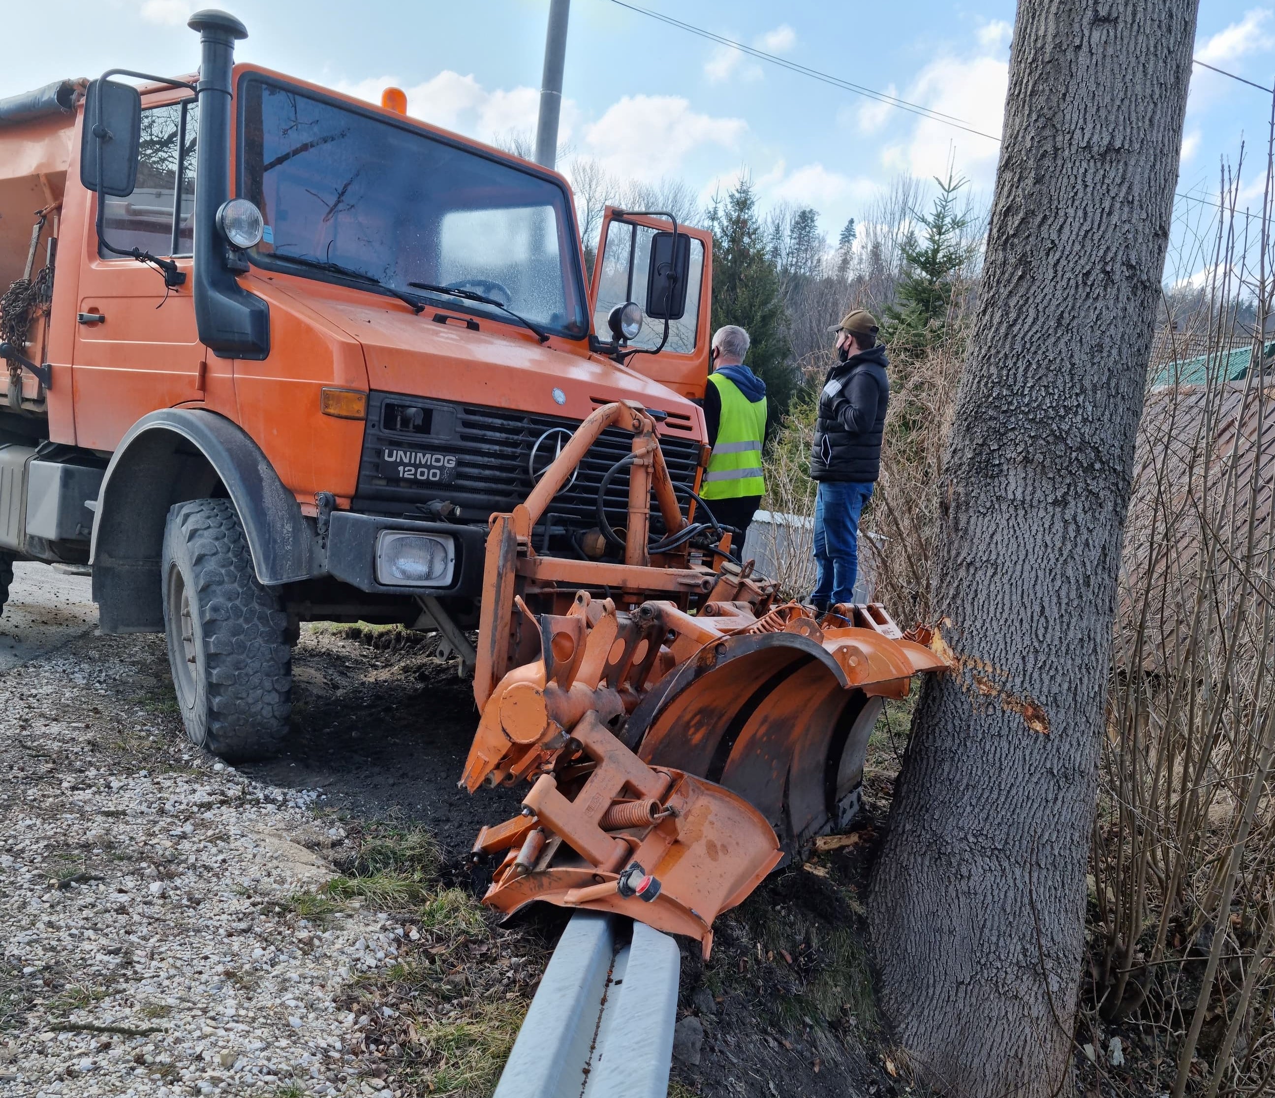
[[[815,565],[810,601],[819,610],[852,602],[858,573],[859,515],[881,472],[881,435],[890,403],[885,347],[877,323],[862,309],[845,314],[836,333],[836,363],[819,397],[810,474],[815,504]]]

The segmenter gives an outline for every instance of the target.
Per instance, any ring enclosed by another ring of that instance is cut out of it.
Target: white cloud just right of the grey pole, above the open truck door
[[[743,119],[701,115],[680,96],[625,96],[584,128],[584,142],[608,171],[655,181],[703,145],[736,148],[747,130]]]

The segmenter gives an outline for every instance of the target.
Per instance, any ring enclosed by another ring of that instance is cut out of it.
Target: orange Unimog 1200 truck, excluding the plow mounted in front
[[[245,759],[301,621],[465,653],[488,516],[594,408],[650,411],[688,496],[711,242],[608,210],[586,287],[560,175],[190,26],[198,78],[0,101],[0,603],[15,560],[89,564],[102,631],[164,631],[191,740]],[[630,445],[594,444],[538,553],[621,559]]]

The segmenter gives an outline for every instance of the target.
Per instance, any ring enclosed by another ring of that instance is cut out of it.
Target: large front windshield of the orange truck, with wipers
[[[575,231],[556,182],[261,79],[241,88],[240,194],[266,224],[255,261],[333,264],[423,300],[431,293],[409,283],[467,289],[558,335],[588,334]],[[509,319],[482,302],[439,301]]]

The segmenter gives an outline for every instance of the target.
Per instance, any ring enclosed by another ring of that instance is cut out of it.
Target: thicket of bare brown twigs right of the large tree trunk
[[[1269,224],[1267,212],[1250,270],[1233,222],[1219,218],[1207,298],[1191,302],[1209,365],[1191,371],[1198,384],[1148,394],[1099,772],[1077,1041],[1103,1048],[1121,1033],[1141,1044],[1145,1084],[1174,1098],[1267,1094],[1275,1079],[1275,384],[1260,342]],[[1165,301],[1178,363],[1201,351],[1179,306]],[[1256,366],[1227,381],[1223,362],[1234,363],[1246,334]]]

